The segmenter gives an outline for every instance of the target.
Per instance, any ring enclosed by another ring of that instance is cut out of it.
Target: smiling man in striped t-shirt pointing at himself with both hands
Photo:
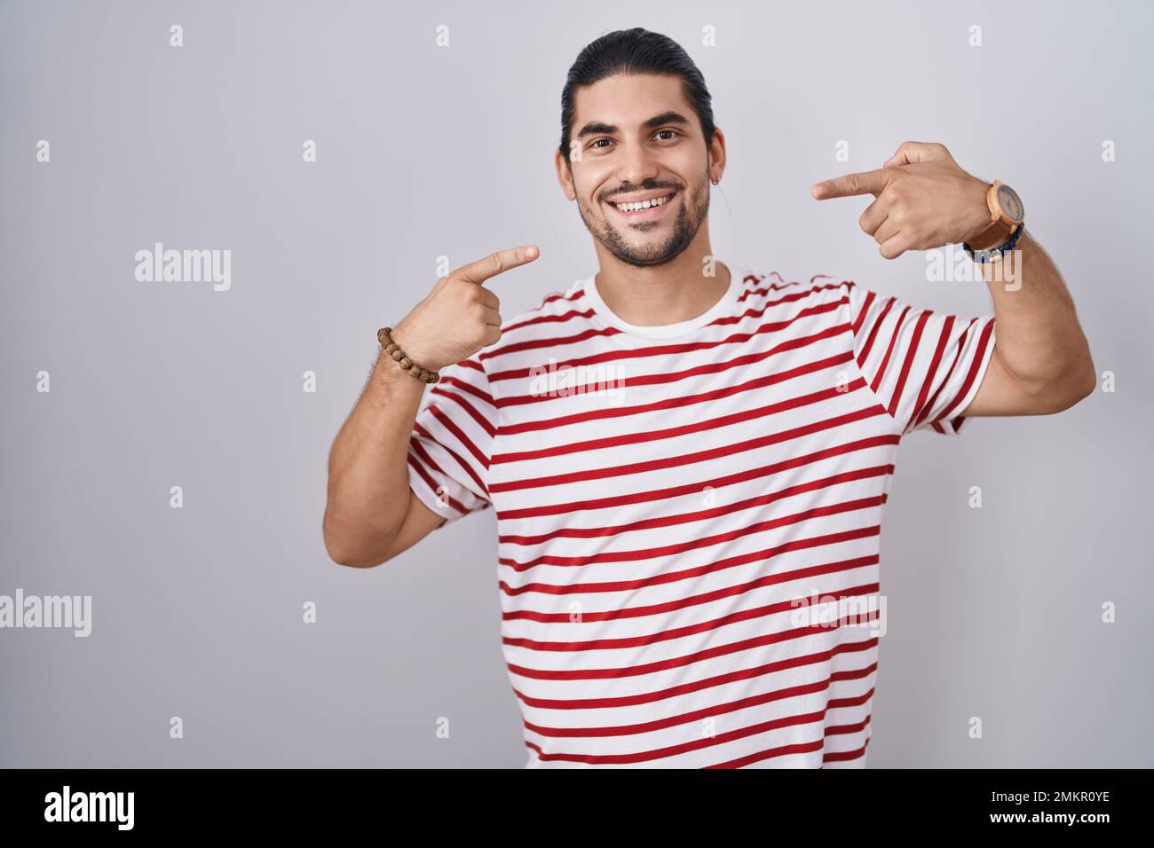
[[[872,195],[861,226],[887,258],[984,248],[992,316],[715,260],[725,164],[681,47],[642,29],[590,44],[556,168],[600,271],[510,321],[486,284],[534,247],[439,279],[382,331],[332,446],[338,563],[380,564],[496,510],[530,766],[863,766],[901,436],[1059,412],[1096,382],[1017,196],[945,148],[907,142],[814,197]]]

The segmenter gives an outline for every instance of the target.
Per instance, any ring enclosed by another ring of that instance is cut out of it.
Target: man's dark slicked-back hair
[[[705,145],[713,141],[713,98],[705,77],[680,44],[640,27],[607,32],[591,42],[569,68],[561,91],[561,155],[569,160],[574,123],[574,96],[579,85],[592,85],[615,74],[664,74],[681,77],[682,92],[697,112]]]

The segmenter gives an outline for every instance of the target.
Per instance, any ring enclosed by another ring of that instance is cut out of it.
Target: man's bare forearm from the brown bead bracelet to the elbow
[[[409,440],[425,383],[382,351],[329,452],[324,545],[337,562],[384,550],[409,509]]]

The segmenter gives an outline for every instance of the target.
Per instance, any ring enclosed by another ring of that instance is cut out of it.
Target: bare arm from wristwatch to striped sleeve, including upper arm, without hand
[[[994,352],[960,414],[1044,415],[1091,395],[1097,373],[1074,301],[1029,230],[1009,256],[983,263],[982,273],[994,297]]]

